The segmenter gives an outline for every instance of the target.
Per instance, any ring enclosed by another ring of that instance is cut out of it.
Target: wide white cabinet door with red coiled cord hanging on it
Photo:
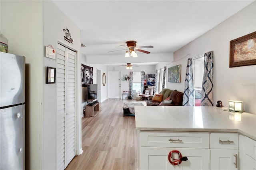
[[[172,166],[168,160],[172,150],[179,150],[188,160]],[[209,155],[210,149],[141,147],[140,170],[207,170],[210,168]]]

